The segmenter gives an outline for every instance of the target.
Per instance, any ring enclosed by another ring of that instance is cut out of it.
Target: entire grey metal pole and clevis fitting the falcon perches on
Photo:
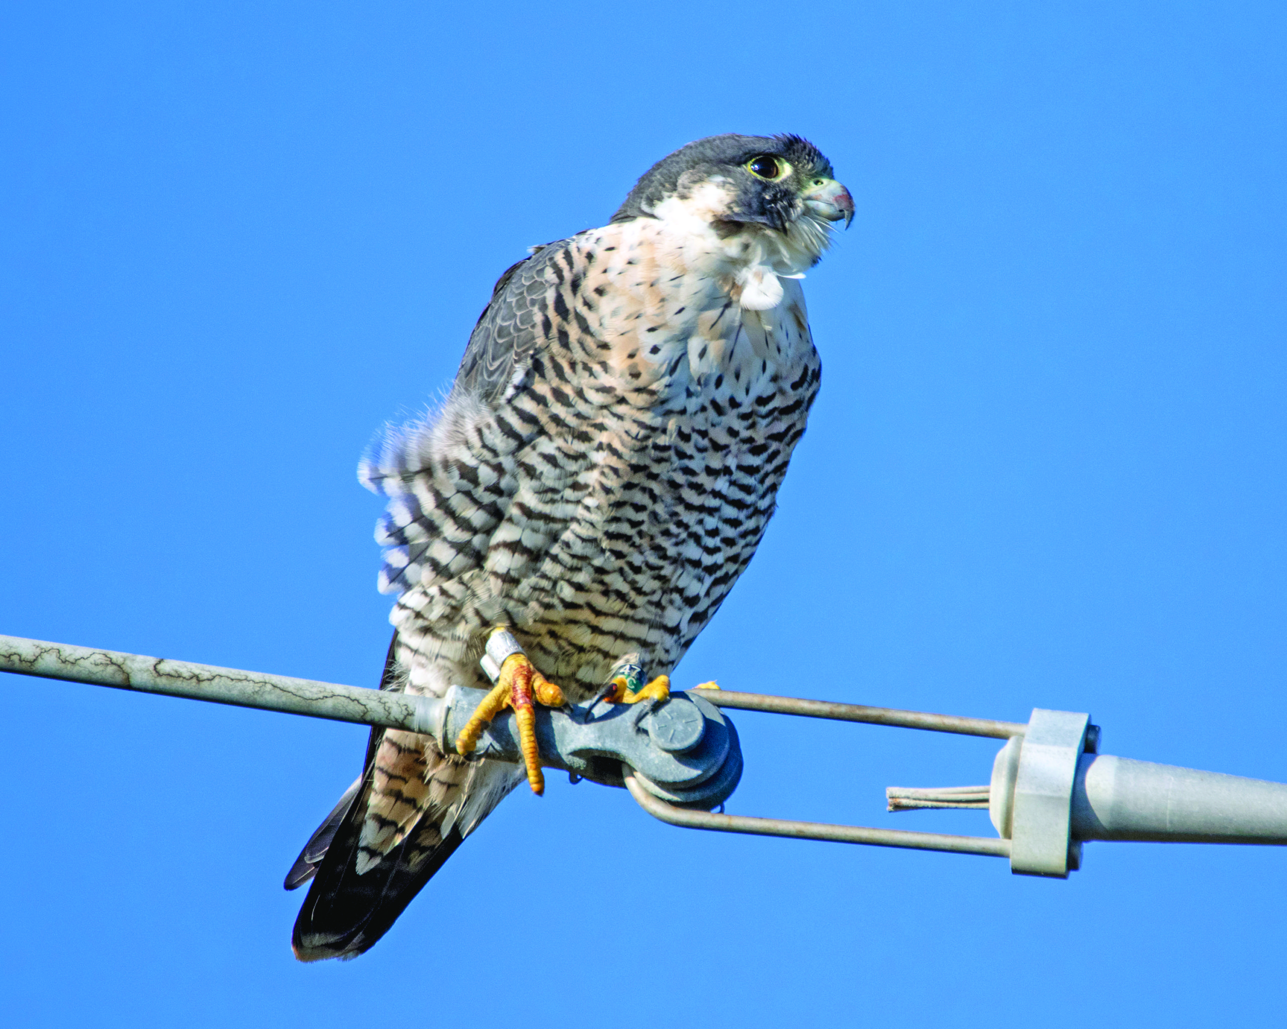
[[[0,671],[407,729],[444,752],[485,696],[453,686],[420,697],[3,635]],[[719,707],[1005,740],[986,786],[887,791],[891,810],[986,809],[1000,839],[712,813],[743,767]],[[542,707],[537,737],[542,764],[624,786],[649,814],[687,828],[986,854],[1059,879],[1081,866],[1089,840],[1287,844],[1287,785],[1100,754],[1099,727],[1076,711],[1037,707],[1021,723],[703,688],[660,705]],[[520,760],[511,715],[492,720],[476,756]]]

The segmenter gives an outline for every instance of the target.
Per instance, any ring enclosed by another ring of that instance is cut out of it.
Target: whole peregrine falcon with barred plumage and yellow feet
[[[607,225],[506,271],[441,409],[362,463],[389,498],[380,588],[398,597],[381,688],[490,695],[454,754],[372,731],[286,877],[313,880],[301,961],[367,951],[524,777],[542,791],[533,704],[668,696],[804,433],[821,364],[799,279],[852,217],[799,136],[682,147]],[[499,629],[520,650],[493,686],[480,657]],[[505,707],[524,764],[465,756]]]

